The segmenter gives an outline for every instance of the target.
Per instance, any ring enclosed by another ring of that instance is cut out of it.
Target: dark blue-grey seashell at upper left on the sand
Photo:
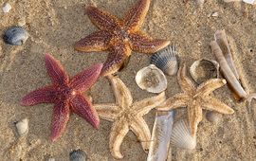
[[[9,45],[23,45],[27,38],[27,30],[23,27],[9,27],[4,34],[4,41]]]

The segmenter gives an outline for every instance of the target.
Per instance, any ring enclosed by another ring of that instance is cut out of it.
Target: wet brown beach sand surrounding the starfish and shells
[[[3,6],[1,1],[0,5]],[[80,53],[73,44],[96,31],[84,15],[84,5],[94,3],[122,17],[137,0],[9,0],[12,9],[0,13],[0,32],[7,27],[26,25],[30,36],[25,45],[10,46],[0,40],[0,160],[68,160],[69,152],[82,149],[89,160],[115,160],[109,152],[108,139],[112,122],[101,119],[100,130],[93,129],[81,117],[72,115],[63,136],[52,143],[49,140],[52,104],[23,107],[20,99],[28,92],[50,83],[46,74],[44,53],[52,55],[64,64],[74,76],[94,63],[102,63],[106,52]],[[217,17],[209,16],[218,12]],[[203,9],[193,1],[153,0],[143,25],[143,30],[153,37],[169,39],[178,46],[181,62],[188,66],[200,58],[214,59],[210,41],[217,29],[226,29],[233,39],[235,63],[247,80],[247,88],[256,91],[256,9],[242,3],[226,4],[221,0],[209,0]],[[149,64],[150,55],[133,53],[127,68],[118,76],[131,89],[135,100],[154,96],[137,87],[135,73]],[[167,77],[167,97],[180,92],[176,77]],[[89,91],[93,101],[114,102],[108,80],[101,78]],[[233,98],[228,86],[214,92],[217,98],[229,104],[233,115],[222,116],[217,124],[205,117],[199,124],[195,150],[185,151],[171,147],[169,160],[255,160],[256,159],[256,101],[251,107]],[[186,111],[178,110],[179,115]],[[204,112],[205,115],[205,112]],[[29,119],[29,132],[19,137],[14,122]],[[152,129],[155,111],[144,116]],[[121,145],[122,160],[146,160],[137,137],[129,132]]]

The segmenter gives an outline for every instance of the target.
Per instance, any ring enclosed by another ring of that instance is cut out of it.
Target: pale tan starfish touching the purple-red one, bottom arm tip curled
[[[149,150],[151,134],[142,116],[162,103],[165,94],[161,93],[153,98],[145,98],[133,103],[131,92],[119,78],[110,75],[108,79],[112,84],[116,103],[95,104],[94,107],[101,118],[114,121],[109,139],[110,152],[115,158],[123,157],[120,153],[120,145],[129,130],[137,135],[143,150]]]

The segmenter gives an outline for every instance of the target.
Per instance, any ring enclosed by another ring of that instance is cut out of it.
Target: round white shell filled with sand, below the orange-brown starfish
[[[155,64],[140,69],[136,74],[136,82],[139,88],[151,93],[161,93],[167,88],[165,75]]]

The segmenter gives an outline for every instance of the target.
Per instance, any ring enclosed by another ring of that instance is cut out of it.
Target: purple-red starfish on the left
[[[31,106],[39,103],[54,103],[51,140],[55,141],[63,134],[71,113],[75,113],[99,128],[100,118],[88,98],[82,91],[88,90],[101,75],[102,64],[96,64],[83,70],[69,80],[61,63],[46,54],[46,69],[52,85],[39,88],[22,98],[21,105]]]

